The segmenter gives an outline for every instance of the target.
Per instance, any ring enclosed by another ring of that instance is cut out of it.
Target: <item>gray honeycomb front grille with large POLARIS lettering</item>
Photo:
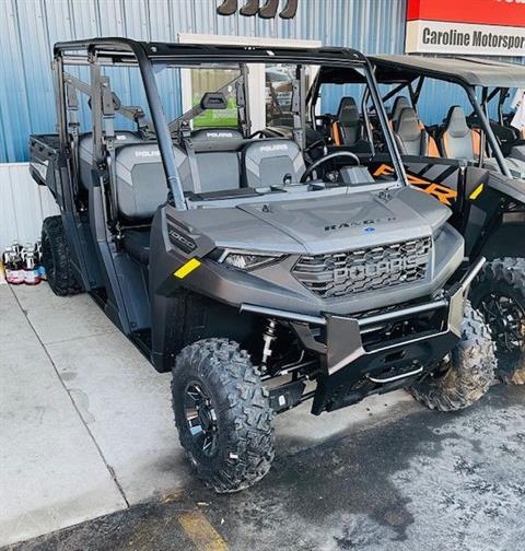
[[[432,238],[345,250],[329,255],[302,256],[293,276],[323,298],[390,289],[424,279]]]

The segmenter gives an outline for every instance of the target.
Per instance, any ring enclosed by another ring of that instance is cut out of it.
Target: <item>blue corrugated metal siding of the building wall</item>
[[[55,130],[50,60],[58,40],[128,36],[176,42],[178,33],[202,33],[318,39],[365,54],[404,49],[406,0],[300,0],[291,21],[222,17],[215,13],[220,1],[0,0],[0,162],[26,160],[28,134]],[[170,102],[177,109],[178,78],[163,78],[175,85]],[[140,97],[140,86],[129,75],[121,77],[115,87]],[[335,101],[326,99],[324,106],[334,110]],[[433,86],[421,116],[427,124],[438,122],[444,106],[458,101],[452,89]]]

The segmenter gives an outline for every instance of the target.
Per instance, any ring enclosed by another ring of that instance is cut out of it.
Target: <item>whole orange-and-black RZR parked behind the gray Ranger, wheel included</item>
[[[452,209],[451,222],[465,238],[468,261],[479,256],[489,260],[469,298],[491,328],[500,378],[523,383],[525,128],[514,128],[511,122],[520,126],[518,117],[504,109],[511,97],[514,109],[525,102],[525,68],[450,57],[373,56],[370,61],[376,81],[386,90],[383,103],[407,181]],[[319,120],[317,99],[323,86],[340,85],[345,94],[351,94],[358,83],[348,71],[320,68],[310,93],[312,120]],[[377,113],[365,94],[354,95],[352,102],[352,125],[373,137],[369,169],[375,178],[392,176],[395,167],[381,160],[384,143],[377,132]],[[329,104],[330,93],[324,93],[323,105]],[[341,131],[349,125],[348,117],[339,117],[339,112],[324,117],[330,122],[325,146],[354,151],[359,143]]]

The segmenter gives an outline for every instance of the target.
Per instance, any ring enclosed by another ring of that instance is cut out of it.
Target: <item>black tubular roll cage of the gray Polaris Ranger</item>
[[[138,67],[142,78],[148,105],[151,113],[152,125],[159,143],[159,150],[166,175],[172,200],[177,210],[186,210],[180,177],[175,163],[172,150],[172,133],[170,121],[166,119],[162,105],[159,89],[155,82],[153,66],[176,65],[177,67],[191,66],[195,63],[236,63],[245,67],[250,62],[272,62],[290,63],[298,67],[298,79],[294,83],[295,97],[292,106],[293,113],[293,137],[302,149],[305,146],[306,116],[305,116],[305,84],[304,66],[315,65],[323,67],[329,65],[341,69],[360,67],[364,70],[364,79],[369,84],[371,94],[376,105],[380,105],[378,116],[385,129],[387,145],[397,174],[401,181],[406,184],[406,175],[401,160],[395,146],[395,141],[387,124],[386,112],[381,103],[377,84],[372,74],[368,59],[357,50],[348,48],[265,48],[265,47],[236,47],[236,46],[211,46],[170,43],[147,43],[137,42],[129,38],[91,38],[85,40],[72,40],[57,43],[54,47],[54,60],[56,69],[57,85],[57,112],[60,148],[63,152],[69,152],[71,145],[68,137],[68,86],[77,86],[82,90],[78,79],[65,71],[67,66],[90,66],[91,81],[97,91],[90,92],[93,112],[93,132],[96,137],[94,144],[94,157],[97,162],[103,161],[104,144],[102,142],[102,121],[107,121],[115,113],[114,95],[107,85],[107,78],[101,74],[102,66],[128,66]],[[245,75],[246,72],[243,71]],[[82,83],[83,84],[83,83]],[[247,105],[247,98],[245,104]],[[74,110],[74,105],[73,105]],[[138,110],[132,107],[124,107],[119,113],[137,122],[142,118]],[[249,129],[248,108],[245,108],[244,116],[248,121],[246,128]],[[73,126],[78,121],[71,121]],[[112,128],[109,129],[112,131]]]

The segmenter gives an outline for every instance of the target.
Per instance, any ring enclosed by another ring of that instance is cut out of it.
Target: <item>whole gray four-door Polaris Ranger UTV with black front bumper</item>
[[[378,119],[354,152],[313,161],[319,67],[354,72]],[[453,410],[487,390],[492,343],[465,301],[483,258],[465,261],[451,210],[407,185],[361,54],[103,38],[57,44],[55,71],[59,132],[31,138],[60,208],[43,227],[49,284],[89,292],[173,372],[208,485],[262,478],[273,415],[305,400],[319,414],[406,387]],[[260,82],[266,118],[248,101]],[[374,176],[380,162],[393,171]]]

